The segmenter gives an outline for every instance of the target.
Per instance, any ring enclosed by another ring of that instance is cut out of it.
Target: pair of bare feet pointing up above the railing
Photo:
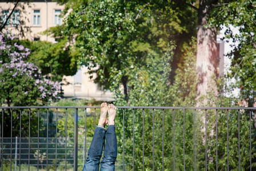
[[[109,119],[107,119],[107,113],[109,113]],[[115,125],[115,115],[117,114],[117,107],[114,104],[102,103],[101,104],[101,116],[99,116],[98,125],[105,127],[107,123],[109,125]]]

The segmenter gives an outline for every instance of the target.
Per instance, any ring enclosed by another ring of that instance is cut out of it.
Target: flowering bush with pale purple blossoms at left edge
[[[33,105],[59,98],[61,84],[47,79],[35,64],[26,62],[29,48],[15,43],[9,32],[0,34],[0,103]]]

